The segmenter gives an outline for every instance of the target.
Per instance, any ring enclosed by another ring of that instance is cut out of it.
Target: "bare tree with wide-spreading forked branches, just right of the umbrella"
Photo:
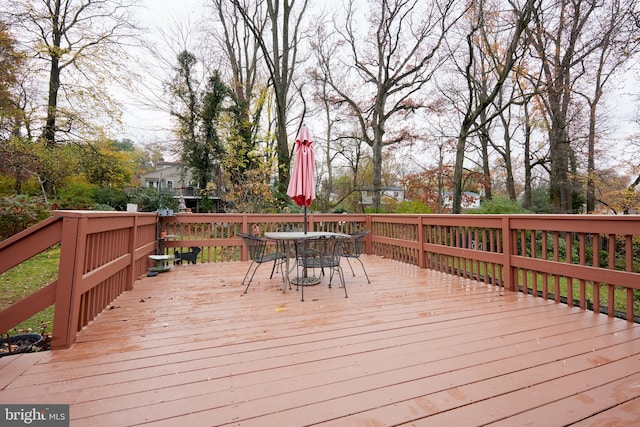
[[[362,33],[356,2],[347,4],[344,27],[335,33],[346,46],[346,68],[321,64],[335,92],[335,102],[349,106],[359,123],[361,138],[373,150],[373,205],[380,209],[383,148],[413,135],[401,122],[428,108],[423,89],[442,64],[440,46],[451,25],[453,2],[382,0],[372,2],[369,31]]]

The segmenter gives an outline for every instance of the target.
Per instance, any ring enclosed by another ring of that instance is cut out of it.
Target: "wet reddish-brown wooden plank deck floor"
[[[305,302],[270,265],[247,295],[248,262],[145,277],[72,348],[1,358],[0,402],[83,427],[640,423],[640,325],[364,262]]]

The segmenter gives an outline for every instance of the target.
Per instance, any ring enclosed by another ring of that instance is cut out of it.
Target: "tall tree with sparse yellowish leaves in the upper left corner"
[[[123,46],[136,34],[129,15],[132,7],[129,0],[11,2],[8,13],[20,24],[25,43],[35,58],[47,64],[42,139],[48,146],[55,146],[62,131],[71,135],[92,127],[91,119],[99,116],[92,115],[94,107],[114,105],[105,82],[121,77],[114,70],[127,57]],[[116,114],[111,108],[106,113]]]

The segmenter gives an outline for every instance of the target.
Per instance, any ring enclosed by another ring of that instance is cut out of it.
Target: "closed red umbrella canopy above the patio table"
[[[311,206],[316,198],[316,155],[311,133],[305,125],[302,125],[296,138],[295,154],[287,194],[298,206]]]

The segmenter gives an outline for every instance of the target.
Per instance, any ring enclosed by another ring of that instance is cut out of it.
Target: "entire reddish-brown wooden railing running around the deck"
[[[0,331],[55,304],[52,347],[68,347],[77,331],[146,273],[148,255],[198,246],[200,262],[246,260],[238,233],[302,230],[302,219],[56,211],[0,242],[0,274],[61,246],[58,278],[0,312]],[[638,320],[638,216],[309,214],[307,228],[369,229],[368,254]],[[161,231],[168,236],[158,240]]]

